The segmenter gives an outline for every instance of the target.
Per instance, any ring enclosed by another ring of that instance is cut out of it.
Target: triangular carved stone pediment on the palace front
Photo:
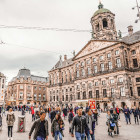
[[[75,59],[83,57],[85,55],[88,55],[90,53],[93,53],[95,51],[106,48],[106,47],[111,46],[111,45],[116,44],[116,43],[117,42],[115,42],[115,41],[111,42],[111,41],[92,40],[75,56]]]

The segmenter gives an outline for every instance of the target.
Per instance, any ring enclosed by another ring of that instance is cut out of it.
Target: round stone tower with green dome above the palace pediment
[[[91,25],[94,39],[117,40],[115,14],[105,9],[101,2],[91,18]]]

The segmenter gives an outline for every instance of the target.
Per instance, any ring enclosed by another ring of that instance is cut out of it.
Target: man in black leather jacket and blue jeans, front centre
[[[75,128],[76,140],[84,140],[85,138],[85,128],[89,129],[86,117],[82,115],[82,109],[78,109],[78,115],[73,118],[71,136],[74,137],[73,130]],[[90,130],[90,129],[89,129]],[[90,134],[92,134],[90,130]]]

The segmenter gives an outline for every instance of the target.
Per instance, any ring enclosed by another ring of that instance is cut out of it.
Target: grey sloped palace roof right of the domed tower
[[[140,31],[133,33],[132,35],[128,35],[122,38],[122,41],[127,44],[133,44],[140,41]]]

